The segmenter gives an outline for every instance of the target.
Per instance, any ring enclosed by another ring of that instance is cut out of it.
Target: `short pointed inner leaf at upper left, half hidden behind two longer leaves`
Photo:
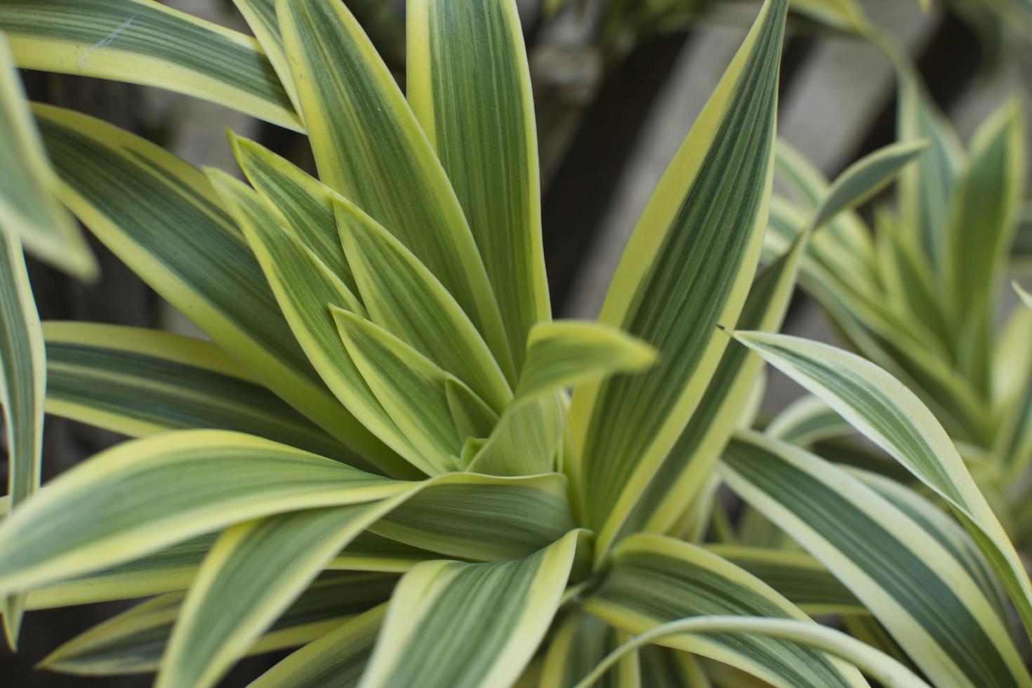
[[[336,230],[333,191],[286,158],[251,139],[230,134],[229,141],[244,174],[279,211],[286,221],[285,227],[293,230],[297,238],[358,297],[358,285]]]

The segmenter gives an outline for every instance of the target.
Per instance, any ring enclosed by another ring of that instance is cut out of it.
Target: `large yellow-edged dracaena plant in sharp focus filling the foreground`
[[[303,130],[320,176],[231,136],[246,184],[30,114],[3,65],[0,134],[24,154],[0,176],[12,641],[24,609],[151,597],[43,665],[197,688],[300,647],[255,685],[825,688],[865,685],[858,666],[925,685],[808,616],[847,614],[939,685],[1029,684],[995,583],[1027,623],[1028,578],[934,418],[880,368],[770,334],[810,233],[923,145],[847,170],[753,279],[786,0],[760,9],[594,323],[550,317],[513,2],[412,0],[407,97],[343,4],[236,4],[257,40],[143,0],[0,1],[17,64]],[[40,326],[21,243],[91,267],[53,193],[211,340]],[[967,530],[736,431],[762,361],[728,332],[802,370]],[[44,376],[49,412],[137,438],[37,491]],[[720,479],[815,557],[700,544]]]

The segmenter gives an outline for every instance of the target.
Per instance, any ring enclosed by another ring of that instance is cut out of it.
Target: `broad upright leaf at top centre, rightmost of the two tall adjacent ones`
[[[408,97],[461,203],[516,368],[551,319],[534,97],[513,0],[408,3]]]

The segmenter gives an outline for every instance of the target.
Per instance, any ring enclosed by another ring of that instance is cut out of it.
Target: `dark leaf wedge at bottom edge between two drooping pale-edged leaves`
[[[365,670],[387,605],[352,619],[309,643],[251,683],[250,688],[352,688]]]

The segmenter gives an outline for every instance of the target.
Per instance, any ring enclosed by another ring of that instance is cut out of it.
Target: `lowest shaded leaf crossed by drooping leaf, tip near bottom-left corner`
[[[386,600],[396,581],[396,577],[382,574],[324,574],[248,649],[248,654],[314,641],[349,617]],[[62,645],[42,665],[87,676],[154,671],[182,613],[183,599],[183,593],[171,593],[138,604]]]

